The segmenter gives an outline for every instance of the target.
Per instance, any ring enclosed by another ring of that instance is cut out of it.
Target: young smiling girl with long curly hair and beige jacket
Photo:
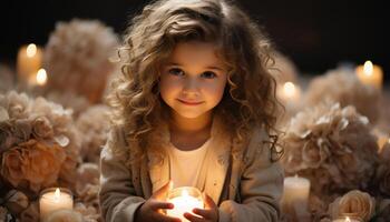
[[[204,193],[188,221],[277,221],[275,83],[255,23],[224,0],[159,0],[133,20],[121,51],[101,152],[104,220],[181,221],[163,213],[175,208],[173,184]]]

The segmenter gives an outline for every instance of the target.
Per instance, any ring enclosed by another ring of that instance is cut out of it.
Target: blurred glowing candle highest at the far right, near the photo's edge
[[[364,65],[359,65],[355,71],[363,84],[372,85],[377,89],[382,88],[383,71],[379,65],[372,64],[371,61],[365,61]]]

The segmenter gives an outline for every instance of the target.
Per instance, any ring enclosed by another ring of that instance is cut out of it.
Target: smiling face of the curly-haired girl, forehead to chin
[[[159,90],[173,114],[202,118],[222,100],[227,67],[216,56],[213,43],[177,43],[162,69]]]

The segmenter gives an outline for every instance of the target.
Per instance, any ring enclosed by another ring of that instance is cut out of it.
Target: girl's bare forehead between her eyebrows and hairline
[[[213,42],[188,41],[178,42],[168,60],[169,62],[187,64],[194,62],[223,65],[224,61]]]

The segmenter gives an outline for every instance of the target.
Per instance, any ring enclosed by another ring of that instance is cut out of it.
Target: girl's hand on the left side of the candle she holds
[[[181,219],[165,215],[163,210],[173,209],[174,205],[165,201],[166,193],[170,189],[169,181],[156,191],[137,211],[136,222],[181,222]]]

